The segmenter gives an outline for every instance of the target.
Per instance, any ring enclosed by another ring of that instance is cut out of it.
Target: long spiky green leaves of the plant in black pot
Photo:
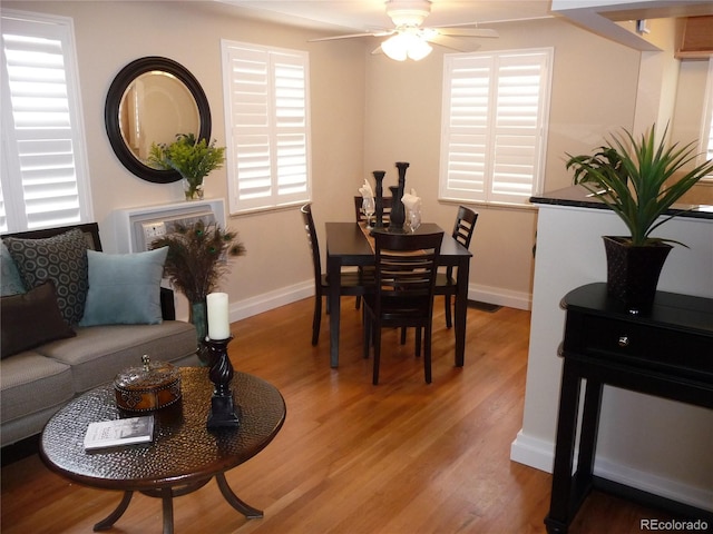
[[[566,166],[574,169],[575,184],[582,184],[622,218],[632,246],[678,243],[651,237],[651,233],[681,215],[684,210],[662,218],[701,178],[713,172],[713,160],[686,170],[697,156],[696,144],[666,146],[667,130],[657,142],[655,125],[641,139],[624,129],[592,156],[567,155]]]

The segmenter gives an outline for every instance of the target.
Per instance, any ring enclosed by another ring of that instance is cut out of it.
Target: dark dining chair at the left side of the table
[[[320,340],[320,326],[322,323],[322,297],[326,297],[330,291],[330,283],[325,274],[322,273],[322,260],[320,258],[320,244],[314,227],[312,216],[312,205],[305,204],[300,208],[304,220],[304,229],[307,233],[307,241],[312,251],[312,266],[314,268],[314,316],[312,318],[312,345]],[[364,276],[358,271],[344,271],[341,274],[340,294],[350,296],[362,296],[369,287],[373,286],[373,278]],[[329,314],[329,306],[326,308]]]

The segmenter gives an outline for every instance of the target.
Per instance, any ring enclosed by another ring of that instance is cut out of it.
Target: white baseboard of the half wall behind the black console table
[[[553,472],[554,457],[554,443],[527,436],[522,431],[518,432],[510,446],[511,461],[546,473]],[[594,474],[618,484],[713,512],[713,488],[682,484],[673,478],[634,469],[602,457],[597,457],[594,463]]]

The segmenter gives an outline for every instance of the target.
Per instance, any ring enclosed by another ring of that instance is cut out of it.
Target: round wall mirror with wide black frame
[[[180,175],[146,164],[152,144],[173,142],[176,134],[211,141],[211,108],[203,88],[168,58],[140,58],[124,67],[109,87],[104,120],[124,167],[155,184],[178,181]]]

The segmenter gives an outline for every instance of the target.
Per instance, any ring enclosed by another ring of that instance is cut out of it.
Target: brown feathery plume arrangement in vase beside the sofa
[[[244,256],[245,247],[236,233],[203,220],[176,224],[172,233],[152,243],[152,249],[162,247],[168,247],[164,276],[188,299],[189,320],[202,343],[207,333],[206,297],[228,273],[227,257]]]

